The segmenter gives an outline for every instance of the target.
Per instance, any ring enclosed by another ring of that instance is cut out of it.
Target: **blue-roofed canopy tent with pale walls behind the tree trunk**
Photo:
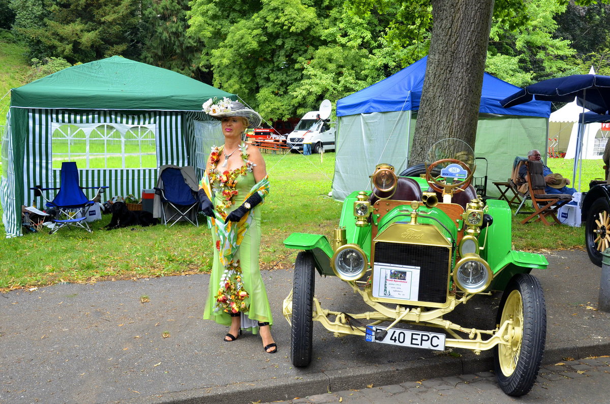
[[[397,173],[408,167],[426,60],[423,57],[389,78],[337,101],[332,181],[332,195],[337,200],[345,199],[353,190],[366,189],[368,176],[379,162],[393,164]],[[484,74],[475,154],[486,157],[489,167],[479,164],[475,176],[483,176],[487,169],[489,184],[511,176],[515,156],[547,148],[549,102],[500,106],[501,99],[518,90],[519,87]],[[488,186],[487,195],[493,194]]]

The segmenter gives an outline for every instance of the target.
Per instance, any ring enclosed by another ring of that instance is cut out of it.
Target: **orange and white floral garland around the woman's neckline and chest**
[[[242,160],[246,164],[240,168],[235,168],[233,171],[218,170],[218,161],[220,161],[220,153],[222,153],[224,146],[212,147],[212,153],[210,153],[210,183],[212,184],[212,192],[223,196],[223,200],[220,204],[216,205],[216,211],[221,215],[223,219],[228,216],[227,210],[235,204],[235,196],[237,195],[237,177],[242,175],[245,176],[247,173],[251,173],[256,164],[248,160],[248,152],[246,149],[248,145],[242,142],[239,145],[239,150],[242,154]]]

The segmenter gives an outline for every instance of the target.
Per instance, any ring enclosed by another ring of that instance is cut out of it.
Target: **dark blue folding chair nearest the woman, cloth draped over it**
[[[162,221],[170,227],[185,220],[199,227],[197,209],[199,200],[196,192],[184,181],[179,168],[167,167],[160,173],[162,187],[155,187],[155,193],[161,197]]]

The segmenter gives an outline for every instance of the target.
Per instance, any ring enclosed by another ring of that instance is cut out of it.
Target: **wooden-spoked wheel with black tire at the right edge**
[[[601,251],[610,245],[610,204],[606,197],[597,198],[587,211],[584,244],[591,262],[601,267]]]

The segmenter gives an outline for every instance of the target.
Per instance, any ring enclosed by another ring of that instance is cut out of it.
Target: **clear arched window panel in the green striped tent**
[[[156,168],[155,124],[51,123],[52,168]]]

